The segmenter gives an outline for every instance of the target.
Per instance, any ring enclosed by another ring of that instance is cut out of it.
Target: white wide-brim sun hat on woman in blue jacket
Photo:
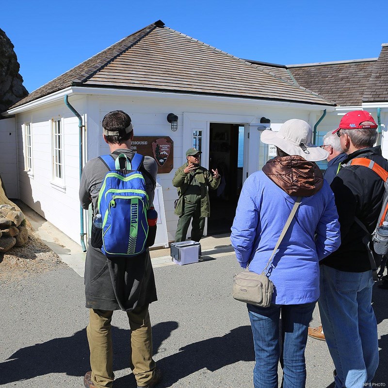
[[[264,144],[273,144],[289,155],[300,155],[310,162],[327,159],[329,153],[312,144],[312,130],[304,121],[293,118],[281,125],[278,132],[265,129],[261,132],[260,140]]]

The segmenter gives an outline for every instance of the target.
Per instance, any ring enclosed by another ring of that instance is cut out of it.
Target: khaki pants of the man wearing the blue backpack
[[[113,311],[89,309],[89,324],[86,333],[90,348],[92,382],[97,388],[112,387],[113,349],[111,321]],[[146,386],[152,379],[155,361],[152,359],[152,329],[148,305],[127,312],[131,329],[132,355],[129,367],[139,387]]]

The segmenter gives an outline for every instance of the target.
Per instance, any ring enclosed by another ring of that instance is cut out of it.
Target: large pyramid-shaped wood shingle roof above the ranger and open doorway
[[[295,85],[283,67],[246,62],[165,27],[160,20],[50,81],[10,109],[68,86],[334,105]]]

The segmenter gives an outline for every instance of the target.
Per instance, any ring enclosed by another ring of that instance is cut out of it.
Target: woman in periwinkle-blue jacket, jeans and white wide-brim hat
[[[307,329],[319,297],[319,260],[340,244],[334,195],[315,162],[327,151],[312,145],[311,127],[291,119],[278,132],[264,130],[261,141],[277,147],[277,157],[242,187],[231,242],[242,268],[261,274],[298,196],[301,204],[268,268],[274,283],[270,307],[247,304],[255,345],[255,388],[306,385]],[[283,349],[279,345],[279,319]]]

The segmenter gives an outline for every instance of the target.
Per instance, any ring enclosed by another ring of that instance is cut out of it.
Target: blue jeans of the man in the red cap
[[[336,388],[363,388],[379,364],[372,308],[372,271],[344,272],[321,265],[319,311],[336,367]]]

